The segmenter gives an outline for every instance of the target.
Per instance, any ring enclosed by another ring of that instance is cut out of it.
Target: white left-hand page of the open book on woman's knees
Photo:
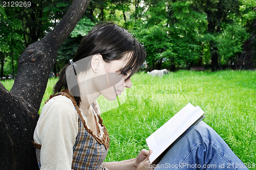
[[[146,138],[149,149],[156,150],[189,117],[195,107],[188,103],[183,109],[169,119],[162,127]]]

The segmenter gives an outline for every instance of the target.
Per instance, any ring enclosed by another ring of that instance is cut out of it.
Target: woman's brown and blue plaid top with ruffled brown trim
[[[64,95],[69,98],[77,111],[78,114],[78,134],[76,136],[75,145],[73,147],[73,161],[72,161],[72,169],[88,169],[88,170],[108,170],[108,168],[103,167],[102,163],[106,158],[106,154],[109,151],[109,142],[110,137],[108,131],[104,125],[102,125],[102,119],[98,114],[98,109],[96,105],[93,104],[93,111],[95,115],[95,120],[100,124],[103,128],[103,137],[100,138],[96,136],[91,129],[88,128],[86,125],[86,121],[83,119],[81,115],[81,111],[78,109],[76,102],[69,94],[67,90],[60,92],[56,95]],[[53,98],[52,95],[50,99]],[[41,145],[34,143],[34,147],[36,148],[36,157],[39,168],[41,167],[40,164],[40,149]]]

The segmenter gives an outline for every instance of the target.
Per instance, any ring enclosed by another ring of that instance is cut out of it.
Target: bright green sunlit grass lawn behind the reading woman
[[[41,105],[55,82],[49,80]],[[162,78],[140,73],[132,77],[132,82],[133,87],[120,96],[120,104],[117,100],[108,103],[102,97],[98,99],[111,136],[106,161],[136,157],[141,149],[147,149],[145,138],[190,102],[205,111],[204,122],[222,136],[231,150],[255,167],[256,71],[180,70]],[[10,90],[12,82],[2,83]]]

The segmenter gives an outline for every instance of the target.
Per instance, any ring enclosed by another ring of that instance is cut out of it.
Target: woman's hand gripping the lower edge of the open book
[[[152,166],[150,166],[150,160],[149,157],[152,154],[152,150],[147,151],[145,149],[141,150],[136,158],[136,163],[138,163],[137,170],[149,170],[154,169]]]

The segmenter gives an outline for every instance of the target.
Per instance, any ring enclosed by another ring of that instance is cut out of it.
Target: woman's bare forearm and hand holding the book
[[[119,162],[103,162],[103,166],[109,168],[110,170],[142,170],[142,169],[151,169],[148,166],[149,160],[148,157],[151,155],[152,151],[148,152],[143,149],[138,154],[137,158],[123,160]]]

